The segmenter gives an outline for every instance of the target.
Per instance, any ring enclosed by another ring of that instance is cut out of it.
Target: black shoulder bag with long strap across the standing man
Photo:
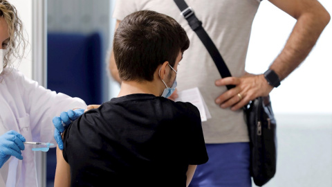
[[[205,32],[202,22],[197,19],[194,10],[187,6],[184,0],[174,0],[181,15],[198,35],[210,53],[222,78],[230,77],[230,71],[221,54]],[[227,85],[232,89],[234,85]],[[257,186],[263,186],[275,175],[277,166],[276,121],[273,114],[270,97],[259,97],[243,107],[250,137],[250,174]]]

